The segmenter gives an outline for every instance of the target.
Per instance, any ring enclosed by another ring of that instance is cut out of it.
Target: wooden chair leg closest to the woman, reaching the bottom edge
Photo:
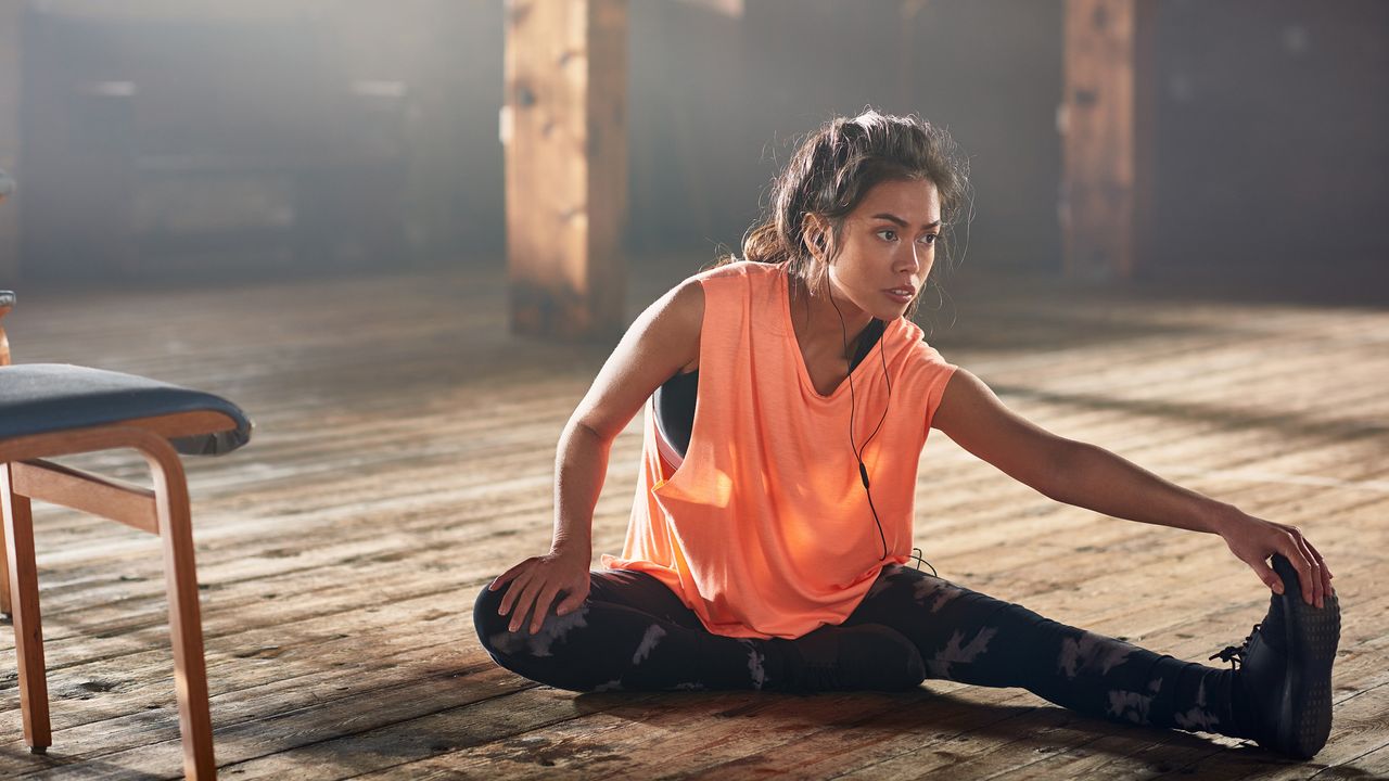
[[[174,681],[178,687],[179,727],[183,732],[183,773],[188,778],[215,778],[213,718],[207,702],[203,660],[203,620],[197,605],[193,564],[193,521],[183,466],[172,449],[149,453],[154,472],[160,539],[164,548],[164,586],[169,600]]]

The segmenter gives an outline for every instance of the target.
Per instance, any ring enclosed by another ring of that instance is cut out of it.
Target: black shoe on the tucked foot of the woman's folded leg
[[[783,678],[772,687],[782,691],[897,692],[926,680],[917,645],[882,624],[825,625],[792,641],[774,642],[785,652]]]

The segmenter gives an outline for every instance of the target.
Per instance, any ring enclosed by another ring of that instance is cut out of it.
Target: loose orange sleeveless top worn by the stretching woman
[[[649,573],[720,635],[796,638],[839,624],[885,564],[910,557],[921,449],[956,367],[897,318],[851,372],[856,445],[886,409],[864,452],[879,536],[849,442],[849,381],[829,396],[811,384],[785,265],[740,261],[697,279],[689,447],[678,468],[663,463],[647,402],[626,542],[603,566]]]

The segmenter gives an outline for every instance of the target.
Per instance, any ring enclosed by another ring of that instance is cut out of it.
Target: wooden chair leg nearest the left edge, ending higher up
[[[19,663],[19,709],[24,712],[24,742],[33,753],[53,745],[49,723],[49,682],[43,664],[43,623],[39,617],[39,571],[33,563],[33,517],[29,498],[14,492],[10,464],[0,464],[0,509],[4,510],[4,539],[14,598],[14,646]]]

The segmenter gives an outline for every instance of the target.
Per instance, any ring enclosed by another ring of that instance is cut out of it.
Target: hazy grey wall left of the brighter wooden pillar
[[[24,270],[56,282],[500,252],[501,3],[24,15]]]

